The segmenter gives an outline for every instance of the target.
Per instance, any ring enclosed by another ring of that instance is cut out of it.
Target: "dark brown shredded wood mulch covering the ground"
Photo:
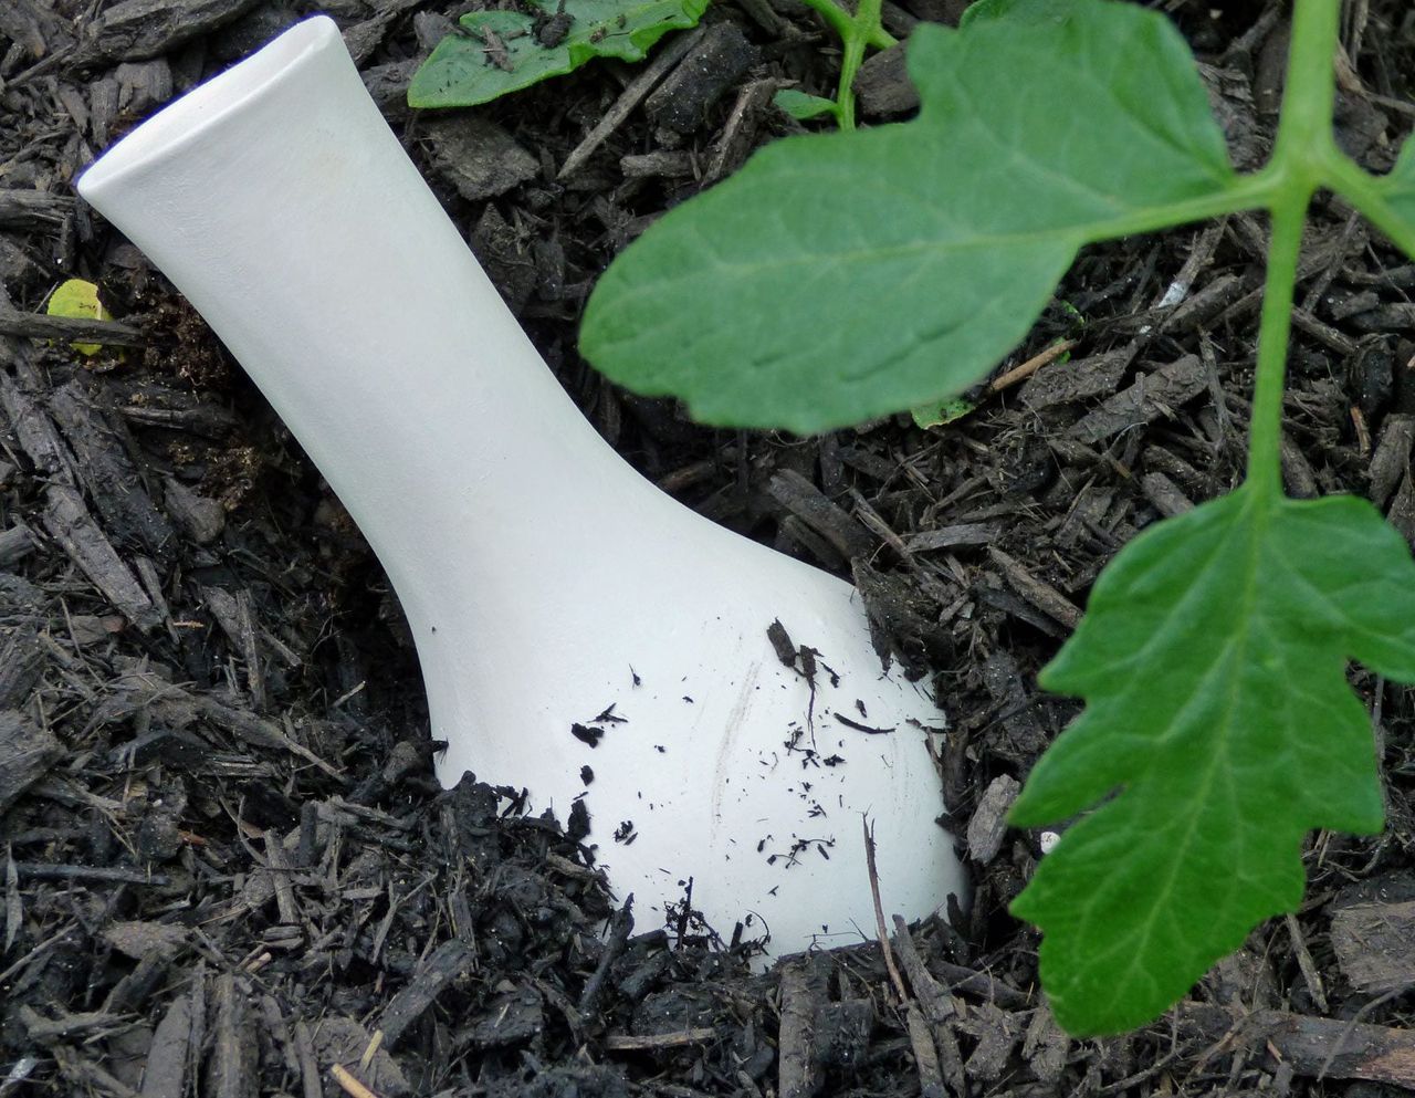
[[[1261,163],[1281,6],[1152,6],[1203,59],[1235,161]],[[974,904],[899,930],[899,985],[877,945],[757,975],[692,920],[635,925],[573,821],[470,777],[443,792],[378,562],[202,321],[71,188],[133,122],[314,6],[6,0],[0,1098],[1415,1088],[1404,688],[1353,669],[1385,832],[1312,836],[1302,910],[1150,1029],[1068,1040],[1036,935],[1006,913],[1041,836],[999,819],[1077,712],[1037,692],[1037,669],[1129,538],[1241,474],[1261,219],[1088,248],[978,410],[947,426],[700,429],[591,372],[576,318],[657,215],[799,129],[770,96],[829,93],[835,44],[795,0],[723,0],[658,47],[638,105],[624,96],[642,67],[596,64],[471,112],[409,113],[412,69],[466,7],[320,10],[599,430],[703,514],[853,574],[897,657],[932,676]],[[887,24],[961,7],[886,3]],[[1415,122],[1415,17],[1401,0],[1348,7],[1340,136],[1382,170]],[[889,55],[862,81],[869,120],[911,109]],[[34,318],[69,276],[98,282],[120,321],[93,358]],[[1319,204],[1283,471],[1293,495],[1371,498],[1415,542],[1412,287],[1415,265]],[[1010,372],[1061,337],[1070,361]]]

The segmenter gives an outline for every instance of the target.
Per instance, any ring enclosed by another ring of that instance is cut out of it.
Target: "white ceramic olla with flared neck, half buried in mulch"
[[[583,797],[640,925],[692,879],[773,952],[962,893],[925,747],[855,590],[693,514],[565,395],[369,99],[300,23],[139,126],[79,192],[171,279],[368,538],[417,641],[439,775]],[[808,681],[767,630],[819,652]],[[590,774],[593,771],[593,780]]]

